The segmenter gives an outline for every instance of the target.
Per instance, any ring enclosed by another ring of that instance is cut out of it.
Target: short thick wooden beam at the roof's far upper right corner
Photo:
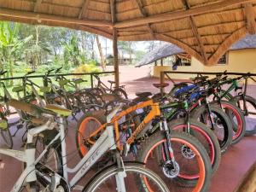
[[[256,15],[254,14],[253,3],[243,4],[243,7],[245,12],[245,17],[247,20],[247,31],[251,35],[256,34],[256,21],[255,21]]]

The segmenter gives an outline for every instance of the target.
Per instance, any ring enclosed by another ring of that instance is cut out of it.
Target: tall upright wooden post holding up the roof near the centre
[[[117,31],[113,28],[113,68],[115,86],[119,86],[119,52],[117,46]]]

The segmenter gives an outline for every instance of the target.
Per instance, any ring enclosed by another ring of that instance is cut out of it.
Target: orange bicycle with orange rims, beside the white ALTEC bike
[[[137,127],[128,123],[122,130],[119,130],[119,120],[126,114],[140,108],[151,108],[143,121],[137,125]],[[143,140],[145,139],[142,138],[140,140],[140,136],[143,135],[143,132],[148,130],[147,125],[153,119],[158,119],[160,129],[155,131],[152,136],[149,136],[148,141],[150,141],[150,144],[153,144],[154,146],[162,146],[162,154],[159,154],[159,158],[164,158],[158,166],[155,166],[157,167],[157,172],[162,178],[173,178],[174,183],[169,185],[169,187],[172,187],[173,189],[176,189],[177,185],[183,185],[183,187],[192,187],[198,189],[198,191],[207,190],[209,179],[212,175],[212,166],[206,149],[198,142],[198,140],[196,140],[195,137],[189,136],[183,132],[171,132],[167,126],[165,117],[160,113],[159,103],[154,103],[153,100],[148,100],[146,102],[141,102],[137,105],[127,107],[113,117],[111,123],[113,124],[115,136],[118,141],[117,147],[122,151],[122,154],[127,156],[128,153],[131,152],[132,154],[135,154],[138,161],[144,162],[145,166],[147,166],[147,162],[143,159],[144,156],[139,154],[141,154],[141,152],[146,153],[149,149],[151,150],[151,148],[147,148],[147,145],[144,146],[137,142],[139,141],[143,143]],[[89,117],[85,117],[79,121],[76,142],[81,157],[86,155],[90,148],[94,147],[94,144],[107,126],[108,123],[101,123],[94,115],[90,115]],[[120,134],[120,132],[122,134]],[[161,140],[159,141],[158,139]],[[122,143],[122,141],[125,142]],[[177,148],[172,148],[173,143],[179,144],[179,146]],[[186,148],[185,146],[187,144],[189,144],[190,147]],[[195,159],[195,156],[193,155],[190,157],[186,155],[180,156],[178,151],[182,150],[182,148],[188,149],[187,152],[190,151],[191,154],[195,153],[199,159]],[[178,156],[177,159],[175,158],[176,155]],[[195,166],[190,168],[186,167],[185,169],[181,168],[180,170],[180,167],[189,165],[189,160],[191,162],[193,161]],[[183,161],[186,161],[186,163]],[[189,171],[195,167],[198,169],[193,170],[194,177],[189,177]]]

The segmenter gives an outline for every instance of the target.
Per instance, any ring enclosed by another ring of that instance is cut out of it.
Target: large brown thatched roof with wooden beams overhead
[[[256,32],[256,0],[0,0],[0,20],[162,40],[213,64]]]

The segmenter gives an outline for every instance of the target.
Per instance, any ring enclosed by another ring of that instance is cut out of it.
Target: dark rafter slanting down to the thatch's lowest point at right
[[[189,10],[190,9],[190,5],[189,5],[189,2],[188,0],[183,0],[183,4],[185,6],[185,9]],[[197,29],[197,26],[195,24],[195,19],[194,19],[194,16],[189,16],[189,24],[192,28],[192,32],[197,40],[197,43],[200,47],[200,50],[201,50],[201,56],[203,57],[203,60],[204,60],[204,64],[207,64],[207,53],[205,51],[205,48],[204,48],[204,44],[201,40],[201,35],[200,33],[198,32],[198,29]]]

